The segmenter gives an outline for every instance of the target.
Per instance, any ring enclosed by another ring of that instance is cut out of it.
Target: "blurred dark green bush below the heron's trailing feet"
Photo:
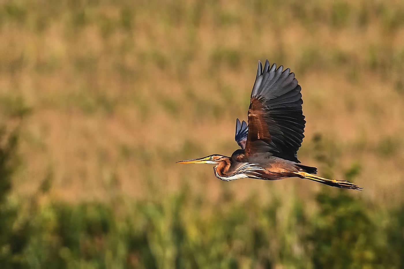
[[[310,227],[315,268],[385,268],[391,265],[391,252],[383,244],[368,208],[347,192],[320,193],[319,212]]]

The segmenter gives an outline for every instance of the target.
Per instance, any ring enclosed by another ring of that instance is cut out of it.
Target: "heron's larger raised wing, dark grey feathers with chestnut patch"
[[[269,152],[272,156],[299,162],[297,150],[303,141],[306,121],[302,113],[302,95],[290,69],[276,69],[274,63],[264,69],[258,62],[257,78],[248,109],[248,136],[245,153]]]

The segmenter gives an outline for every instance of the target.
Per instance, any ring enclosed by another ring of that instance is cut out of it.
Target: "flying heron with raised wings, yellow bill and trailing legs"
[[[236,120],[235,140],[241,148],[231,157],[213,154],[177,163],[214,164],[216,177],[223,181],[299,177],[332,187],[362,189],[346,180],[318,177],[316,167],[303,165],[297,159],[306,123],[302,104],[301,86],[289,68],[276,68],[276,63],[270,66],[268,60],[262,68],[258,61],[248,125]]]

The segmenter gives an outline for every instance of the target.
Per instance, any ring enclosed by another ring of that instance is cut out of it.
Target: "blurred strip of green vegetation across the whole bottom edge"
[[[7,180],[2,177],[2,182]],[[404,206],[370,210],[324,188],[313,206],[215,204],[187,188],[161,202],[1,204],[2,268],[401,268]],[[283,209],[282,209],[283,208]],[[392,208],[391,208],[392,209]]]

